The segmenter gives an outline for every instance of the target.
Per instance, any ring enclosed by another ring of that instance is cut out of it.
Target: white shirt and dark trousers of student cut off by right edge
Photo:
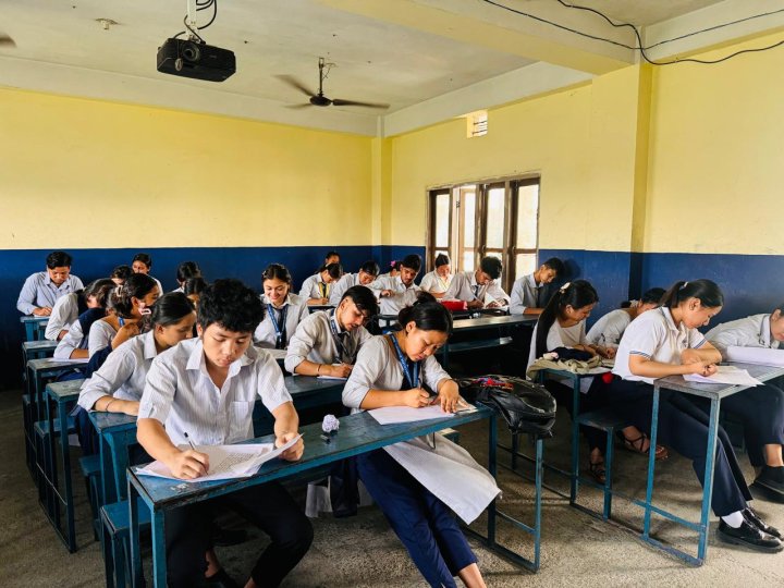
[[[755,315],[719,324],[708,331],[706,339],[724,358],[727,347],[779,348],[779,341],[771,338],[770,315]],[[695,402],[703,411],[710,411],[710,404],[705,401]],[[752,466],[765,465],[764,445],[784,445],[784,391],[777,385],[765,383],[749,388],[723,399],[721,407],[743,424]]]

